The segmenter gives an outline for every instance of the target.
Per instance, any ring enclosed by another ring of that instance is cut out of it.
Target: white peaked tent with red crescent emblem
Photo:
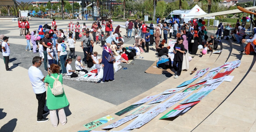
[[[195,16],[205,15],[205,13],[198,5],[195,5],[188,13],[182,14],[181,18],[194,18]],[[205,17],[205,19],[215,19],[215,17]]]

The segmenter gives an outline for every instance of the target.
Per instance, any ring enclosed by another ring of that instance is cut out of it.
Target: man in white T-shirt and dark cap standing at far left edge
[[[3,37],[3,42],[2,42],[2,53],[3,53],[3,59],[4,59],[4,64],[5,64],[5,69],[8,71],[9,68],[9,56],[10,56],[10,49],[8,45],[8,39],[9,37],[4,36]]]

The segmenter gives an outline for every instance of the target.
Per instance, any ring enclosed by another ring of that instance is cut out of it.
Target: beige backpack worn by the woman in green
[[[63,86],[62,86],[61,82],[59,81],[60,75],[58,75],[57,78],[54,78],[53,76],[50,76],[50,77],[54,79],[53,88],[51,88],[50,85],[49,85],[53,95],[57,96],[57,95],[62,94],[63,93]]]

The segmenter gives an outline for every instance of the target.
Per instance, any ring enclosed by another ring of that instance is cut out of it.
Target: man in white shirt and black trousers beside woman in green
[[[38,100],[37,122],[47,122],[49,119],[43,117],[43,115],[49,113],[49,111],[44,111],[46,89],[43,81],[45,77],[41,70],[38,68],[42,64],[42,58],[36,56],[33,58],[32,63],[33,65],[28,69],[28,77],[30,79],[33,91],[36,94],[36,98]]]

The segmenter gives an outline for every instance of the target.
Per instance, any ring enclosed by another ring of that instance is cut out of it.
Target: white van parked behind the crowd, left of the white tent
[[[190,21],[190,19],[189,18],[187,18],[187,19],[181,19],[181,17],[182,17],[182,14],[186,14],[186,13],[188,13],[190,10],[173,10],[169,15],[168,15],[168,17],[166,17],[165,18],[165,20],[164,20],[164,22],[167,22],[167,24],[171,24],[170,23],[170,20],[171,20],[171,17],[174,19],[174,17],[178,17],[179,18],[179,24],[180,23],[182,23],[183,21],[184,22],[188,22],[188,21]]]

